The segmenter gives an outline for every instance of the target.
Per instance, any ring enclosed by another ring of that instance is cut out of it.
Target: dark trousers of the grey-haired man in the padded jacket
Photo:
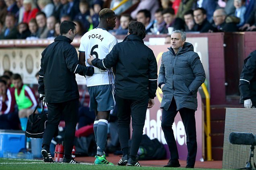
[[[171,154],[171,160],[173,161],[176,161],[179,159],[176,141],[173,135],[173,130],[171,128],[174,122],[174,118],[178,113],[176,109],[177,109],[176,102],[173,98],[169,109],[167,111],[163,109],[162,123],[161,123],[161,127],[163,129],[163,133],[165,135],[165,139],[167,141],[167,145],[169,147],[169,151]],[[187,165],[194,167],[194,164],[196,161],[196,151],[197,151],[195,111],[188,108],[182,108],[179,110],[179,112],[185,127],[186,135],[187,135],[187,148],[188,148]]]

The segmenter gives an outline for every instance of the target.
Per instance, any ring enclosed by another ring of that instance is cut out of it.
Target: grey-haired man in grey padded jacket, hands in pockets
[[[179,167],[178,149],[172,124],[178,111],[186,131],[188,148],[186,168],[194,168],[196,161],[196,94],[205,80],[205,72],[193,45],[187,43],[186,33],[180,30],[171,34],[171,48],[163,53],[159,70],[158,86],[163,91],[161,102],[162,129],[167,141],[171,159],[164,167]]]

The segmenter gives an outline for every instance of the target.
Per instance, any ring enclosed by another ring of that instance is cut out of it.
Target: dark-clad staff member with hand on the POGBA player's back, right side
[[[131,21],[128,36],[118,43],[105,59],[87,59],[102,70],[116,67],[116,106],[118,135],[123,156],[118,165],[140,166],[136,155],[142,138],[147,108],[154,105],[157,90],[157,61],[149,47],[144,45],[145,26]],[[132,116],[132,142],[128,150],[129,125]]]

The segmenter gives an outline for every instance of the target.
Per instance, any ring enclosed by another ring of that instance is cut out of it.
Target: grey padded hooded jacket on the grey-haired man
[[[163,53],[158,86],[163,86],[161,108],[168,110],[174,97],[177,111],[186,107],[197,109],[197,90],[205,80],[205,72],[191,43],[185,43],[177,54],[172,48]]]

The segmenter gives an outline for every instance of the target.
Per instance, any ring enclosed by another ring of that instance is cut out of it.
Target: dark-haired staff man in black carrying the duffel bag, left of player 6
[[[79,93],[75,74],[91,76],[93,67],[78,64],[76,49],[70,45],[76,35],[76,24],[63,21],[60,34],[42,52],[39,71],[38,92],[48,103],[48,122],[43,134],[41,154],[44,162],[53,162],[50,143],[58,129],[61,114],[64,114],[66,132],[64,136],[64,158],[62,162],[78,163],[71,157],[77,123]]]

